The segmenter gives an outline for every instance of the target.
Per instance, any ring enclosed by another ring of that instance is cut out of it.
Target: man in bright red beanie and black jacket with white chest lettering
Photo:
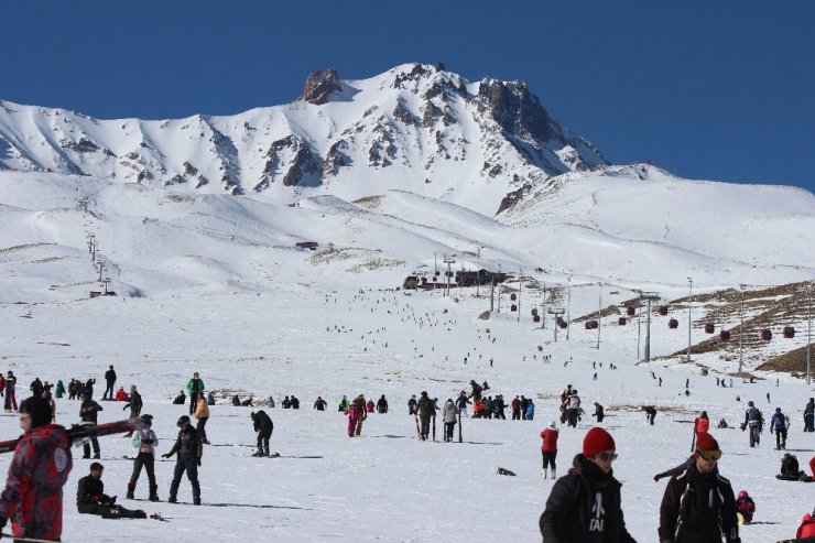
[[[544,543],[634,543],[626,529],[620,487],[611,463],[617,458],[611,435],[600,427],[588,431],[583,454],[568,475],[552,487],[539,522]]]

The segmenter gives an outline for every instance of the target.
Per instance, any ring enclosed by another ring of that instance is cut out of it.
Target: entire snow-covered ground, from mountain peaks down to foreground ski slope
[[[72,498],[88,460],[75,458],[63,540],[540,541],[552,481],[539,476],[539,433],[557,416],[566,383],[584,404],[607,409],[638,541],[656,530],[664,486],[652,476],[684,459],[688,422],[703,409],[732,426],[747,400],[767,414],[781,406],[794,421],[789,445],[803,467],[815,450],[815,434],[800,424],[813,389],[756,368],[806,345],[813,195],[602,166],[590,144],[544,122],[542,108],[513,117],[519,100],[532,100],[520,82],[470,83],[405,65],[358,82],[317,73],[295,102],[229,118],[98,121],[4,102],[0,370],[19,376],[19,397],[35,376],[101,380],[115,363],[120,383],[138,384],[144,411],[156,416],[161,452],[185,412],[169,399],[193,371],[221,403],[208,425],[220,446],[205,453],[205,506],[124,501],[161,511],[169,523],[78,515]],[[318,248],[296,249],[300,241]],[[488,285],[452,296],[396,290],[406,275],[432,278],[445,257],[454,270],[512,274],[496,289],[488,318]],[[104,289],[100,276],[118,295],[88,297]],[[667,315],[651,315],[650,363],[645,315],[619,324],[640,290],[659,292],[669,306]],[[553,307],[570,322],[557,336]],[[532,321],[532,308],[543,323]],[[600,327],[586,329],[588,318]],[[669,328],[671,318],[678,328]],[[705,333],[707,323],[734,340],[709,347],[717,336]],[[781,339],[783,326],[796,336]],[[758,339],[763,328],[771,341]],[[740,358],[757,383],[736,374]],[[717,378],[732,388],[717,387]],[[444,400],[470,379],[508,399],[534,398],[536,420],[465,419],[463,444],[419,443],[404,414],[410,395],[427,390]],[[359,392],[385,394],[392,412],[349,439],[332,406]],[[233,393],[301,399],[300,411],[269,410],[281,458],[248,457],[251,410],[225,405]],[[318,394],[328,412],[311,410]],[[660,411],[655,426],[640,411],[646,404]],[[121,417],[118,405],[105,408],[102,421]],[[58,401],[59,423],[77,412]],[[590,421],[564,428],[562,474]],[[18,432],[14,416],[0,417],[1,435]],[[791,536],[812,507],[812,488],[774,479],[780,454],[771,436],[751,449],[737,430],[714,434],[724,475],[758,503],[742,541]],[[117,437],[102,443],[107,488],[122,497],[130,447]],[[0,456],[0,470],[8,461]],[[497,476],[499,466],[518,477]],[[165,499],[172,463],[157,471]],[[182,481],[182,501],[188,492]]]

